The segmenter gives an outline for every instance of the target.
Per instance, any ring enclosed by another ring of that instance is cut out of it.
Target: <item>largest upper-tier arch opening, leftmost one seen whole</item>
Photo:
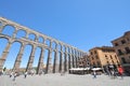
[[[14,30],[15,30],[15,28],[14,28],[13,26],[6,25],[6,26],[3,28],[2,33],[5,34],[5,35],[9,35],[9,37],[12,37]]]

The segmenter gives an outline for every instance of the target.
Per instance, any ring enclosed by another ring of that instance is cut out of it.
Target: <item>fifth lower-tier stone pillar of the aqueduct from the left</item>
[[[50,48],[48,53],[47,73],[52,73],[53,67],[51,61],[52,61],[52,49]]]

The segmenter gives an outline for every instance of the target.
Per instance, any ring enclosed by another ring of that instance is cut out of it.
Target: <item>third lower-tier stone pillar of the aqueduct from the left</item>
[[[34,58],[35,58],[35,51],[36,51],[36,46],[32,46],[32,51],[31,51],[31,54],[30,54],[30,57],[29,57],[29,60],[28,60],[28,63],[27,63],[26,71],[30,71],[32,69],[32,62],[34,62]]]

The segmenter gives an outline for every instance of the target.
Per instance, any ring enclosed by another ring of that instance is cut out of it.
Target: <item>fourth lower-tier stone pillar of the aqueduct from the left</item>
[[[39,58],[39,62],[38,62],[37,74],[40,73],[43,70],[43,58],[44,58],[44,48],[41,48],[40,58]]]

